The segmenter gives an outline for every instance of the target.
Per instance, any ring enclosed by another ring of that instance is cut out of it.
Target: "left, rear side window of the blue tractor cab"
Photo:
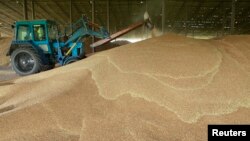
[[[17,40],[31,40],[31,34],[28,25],[19,25],[17,30]]]

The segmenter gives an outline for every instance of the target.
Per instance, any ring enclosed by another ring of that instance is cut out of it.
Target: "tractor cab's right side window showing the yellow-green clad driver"
[[[45,25],[43,25],[43,24],[33,25],[33,30],[34,30],[34,40],[35,41],[46,40]]]

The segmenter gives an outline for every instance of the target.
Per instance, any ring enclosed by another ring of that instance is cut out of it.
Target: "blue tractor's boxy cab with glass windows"
[[[50,20],[18,21],[14,42],[30,43],[45,54],[52,53],[52,42],[58,34],[57,25]]]

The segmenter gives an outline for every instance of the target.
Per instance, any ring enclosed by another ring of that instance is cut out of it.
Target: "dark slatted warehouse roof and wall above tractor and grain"
[[[92,19],[93,8],[94,21],[105,27],[109,25],[111,33],[141,20],[145,11],[156,27],[164,32],[201,35],[250,33],[249,0],[27,0],[27,19],[51,19],[66,26],[81,15]],[[24,0],[0,0],[2,34],[12,35],[14,21],[25,19],[23,9]]]

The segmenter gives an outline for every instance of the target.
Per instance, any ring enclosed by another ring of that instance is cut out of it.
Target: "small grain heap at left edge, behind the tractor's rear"
[[[8,65],[10,58],[6,56],[8,49],[10,48],[12,38],[5,37],[0,38],[0,66]]]

